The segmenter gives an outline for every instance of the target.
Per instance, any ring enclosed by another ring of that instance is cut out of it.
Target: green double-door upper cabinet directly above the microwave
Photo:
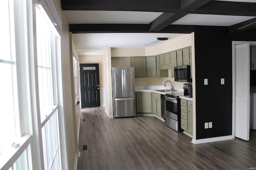
[[[186,47],[184,49],[179,49],[177,52],[177,65],[187,65],[190,64],[191,60],[191,47]]]

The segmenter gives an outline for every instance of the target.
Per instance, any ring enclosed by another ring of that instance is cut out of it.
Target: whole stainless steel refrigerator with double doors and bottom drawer
[[[136,116],[134,67],[112,67],[114,117]]]

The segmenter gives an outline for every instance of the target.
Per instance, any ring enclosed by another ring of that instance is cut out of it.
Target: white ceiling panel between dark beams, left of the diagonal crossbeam
[[[66,11],[68,22],[74,23],[141,23],[148,24],[162,12],[133,11]]]

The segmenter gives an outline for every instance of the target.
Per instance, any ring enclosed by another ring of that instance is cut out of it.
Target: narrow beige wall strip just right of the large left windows
[[[68,169],[74,169],[76,160],[76,151],[78,150],[76,120],[74,119],[74,100],[70,98],[74,94],[72,84],[73,75],[71,74],[72,52],[70,52],[70,35],[69,23],[66,13],[62,11],[60,0],[54,0],[57,12],[62,20],[62,35],[61,35],[61,49],[62,49],[62,88],[63,88],[63,102],[64,102],[64,117],[66,126],[66,149],[68,152]]]

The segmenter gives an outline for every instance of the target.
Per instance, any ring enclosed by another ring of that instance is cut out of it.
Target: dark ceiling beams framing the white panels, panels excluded
[[[242,1],[242,2],[235,2]],[[256,17],[255,0],[61,0],[62,10],[160,12],[150,23],[73,23],[72,33],[191,33],[194,27],[173,24],[188,14]],[[82,16],[81,16],[82,17]],[[90,16],[87,16],[90,17]],[[230,25],[230,33],[256,27],[256,18]]]

